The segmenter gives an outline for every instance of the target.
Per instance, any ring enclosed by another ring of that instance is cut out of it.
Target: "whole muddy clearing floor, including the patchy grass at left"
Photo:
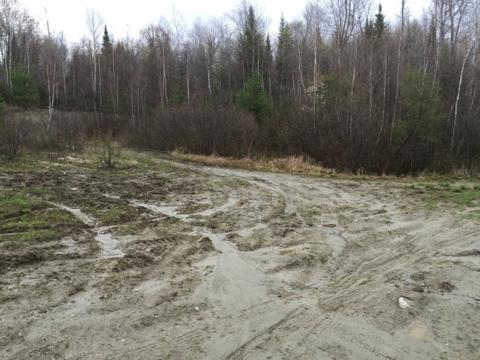
[[[435,186],[3,164],[0,358],[479,359],[478,185]]]

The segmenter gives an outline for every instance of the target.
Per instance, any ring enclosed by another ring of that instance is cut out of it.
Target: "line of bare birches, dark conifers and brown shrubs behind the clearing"
[[[91,134],[160,150],[303,154],[376,173],[478,168],[480,3],[432,0],[412,17],[402,0],[393,22],[375,5],[310,1],[273,36],[245,1],[125,39],[89,11],[87,35],[67,44],[0,0],[2,107],[48,109],[47,133],[87,112]]]

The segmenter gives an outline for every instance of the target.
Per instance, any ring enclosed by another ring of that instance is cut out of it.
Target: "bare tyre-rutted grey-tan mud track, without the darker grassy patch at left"
[[[425,212],[394,182],[155,161],[185,172],[172,183],[202,187],[123,196],[145,228],[134,237],[112,230],[122,252],[86,259],[96,263],[78,274],[84,289],[46,313],[2,309],[8,326],[28,318],[25,334],[3,342],[3,358],[480,356],[478,224]],[[410,308],[398,307],[400,296]]]

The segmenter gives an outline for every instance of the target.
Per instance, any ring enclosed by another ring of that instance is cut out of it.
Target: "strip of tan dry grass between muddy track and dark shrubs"
[[[336,177],[335,170],[324,168],[314,164],[303,156],[289,156],[281,159],[251,158],[241,159],[225,158],[217,155],[195,155],[185,154],[180,151],[173,151],[170,155],[177,160],[190,161],[204,165],[218,167],[233,167],[246,170],[282,172],[291,174],[304,174],[314,176]]]

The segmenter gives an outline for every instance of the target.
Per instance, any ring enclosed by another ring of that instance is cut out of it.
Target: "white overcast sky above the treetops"
[[[95,9],[104,18],[115,38],[127,34],[136,36],[144,26],[157,22],[162,16],[171,20],[180,14],[185,24],[196,18],[221,16],[230,12],[239,0],[21,0],[40,25],[46,23],[46,13],[51,28],[63,31],[67,41],[76,42],[86,33],[87,9]],[[287,20],[301,17],[307,0],[257,0],[255,3],[270,20],[270,31],[276,32],[281,14]],[[407,0],[412,15],[420,15],[429,0]],[[378,2],[373,1],[376,7]],[[383,0],[384,12],[390,21],[400,13],[401,0]]]

